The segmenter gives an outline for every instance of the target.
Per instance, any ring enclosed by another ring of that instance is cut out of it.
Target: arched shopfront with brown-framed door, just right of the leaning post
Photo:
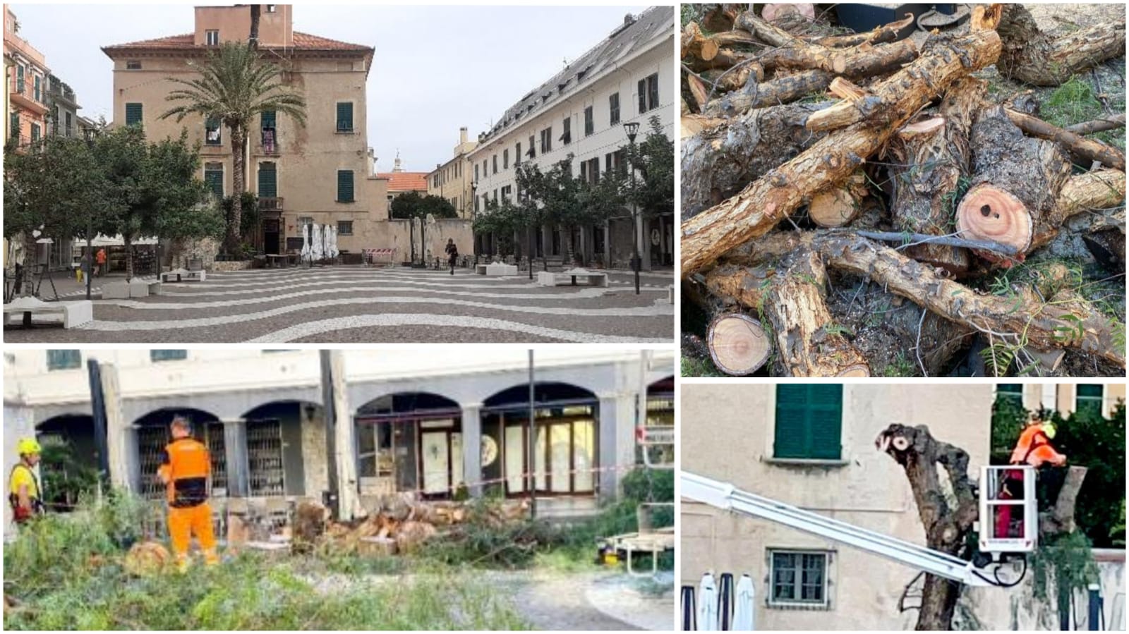
[[[463,486],[463,411],[426,391],[375,398],[357,410],[362,495],[413,492],[449,499]]]

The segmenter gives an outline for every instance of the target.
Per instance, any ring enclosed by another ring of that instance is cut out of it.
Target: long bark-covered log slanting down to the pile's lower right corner
[[[933,266],[850,235],[822,237],[817,248],[829,266],[867,275],[890,292],[996,340],[1016,346],[1076,347],[1126,366],[1124,346],[1117,343],[1121,326],[1092,307],[1032,301],[1022,293],[1010,298],[981,294],[945,279]]]

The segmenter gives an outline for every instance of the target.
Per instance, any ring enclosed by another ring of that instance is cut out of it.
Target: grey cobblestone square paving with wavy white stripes
[[[5,329],[9,343],[572,342],[666,343],[669,273],[609,274],[609,288],[539,287],[527,273],[281,268],[163,284],[164,294],[94,300],[94,322]],[[103,282],[99,280],[98,282]],[[73,284],[61,284],[73,287]],[[100,284],[98,284],[100,285]],[[95,289],[95,297],[99,297]],[[60,288],[61,299],[85,290]]]

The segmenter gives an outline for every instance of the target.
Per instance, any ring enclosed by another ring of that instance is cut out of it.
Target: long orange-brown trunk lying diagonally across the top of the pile
[[[723,253],[764,235],[806,202],[812,192],[849,176],[936,94],[994,63],[999,46],[999,37],[990,29],[931,39],[926,54],[882,82],[903,86],[904,90],[901,98],[876,113],[878,121],[829,134],[736,196],[684,221],[682,275],[700,271]]]

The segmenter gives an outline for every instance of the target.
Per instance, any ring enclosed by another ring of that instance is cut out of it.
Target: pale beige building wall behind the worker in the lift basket
[[[1062,395],[1057,403],[1067,407],[1066,397],[1078,390],[1057,387]],[[1123,398],[1123,385],[1103,387],[1114,402],[1115,395]],[[795,416],[781,415],[794,407],[796,393],[780,391],[789,389],[815,390],[805,396],[805,406],[829,405],[822,411],[831,415],[821,419],[817,434],[805,435],[794,426]],[[928,425],[935,438],[969,452],[969,473],[979,477],[989,460],[996,397],[990,384],[683,385],[681,465],[739,490],[924,545],[909,482],[875,448],[875,438],[891,423]],[[756,629],[909,629],[916,623],[916,610],[901,611],[899,602],[907,587],[917,583],[920,590],[918,571],[900,563],[685,499],[680,539],[682,585],[697,591],[707,571],[752,578]],[[1124,552],[1095,555],[1104,560],[1102,592],[1109,606],[1123,597]],[[1014,589],[966,590],[959,628],[1057,628],[1053,606],[1031,599],[1030,581],[1029,573]],[[1084,600],[1078,599],[1080,618]]]

